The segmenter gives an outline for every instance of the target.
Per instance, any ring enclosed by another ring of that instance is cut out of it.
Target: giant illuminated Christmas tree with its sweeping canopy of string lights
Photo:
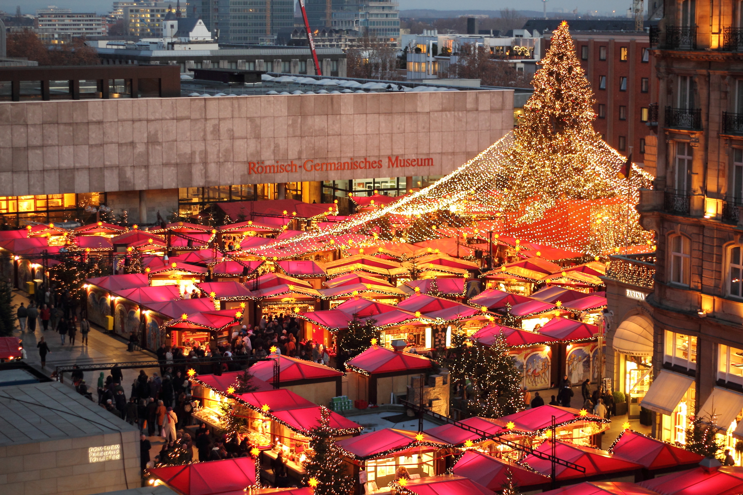
[[[413,243],[481,229],[484,221],[495,232],[519,232],[592,255],[646,243],[649,234],[637,222],[635,205],[638,189],[650,188],[652,176],[632,165],[628,178],[618,177],[626,159],[594,131],[594,99],[568,24],[554,31],[540,63],[519,127],[473,160],[388,206],[253,253],[289,258],[349,234],[369,236],[368,246],[382,243],[380,237]],[[336,246],[351,244],[339,240]]]

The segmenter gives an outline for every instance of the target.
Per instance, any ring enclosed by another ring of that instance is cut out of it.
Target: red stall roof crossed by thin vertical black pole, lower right
[[[539,409],[539,407],[536,409]],[[544,442],[536,448],[539,452],[550,455],[551,449],[551,442]],[[583,447],[582,445],[568,444],[565,442],[557,442],[555,456],[557,456],[558,459],[563,459],[585,468],[585,473],[581,473],[573,468],[557,465],[557,479],[583,478],[587,476],[595,476],[597,474],[619,473],[622,471],[633,471],[642,468],[641,465],[635,462],[626,461],[620,456],[614,456],[606,450]],[[549,476],[551,473],[552,463],[548,460],[539,459],[539,457],[528,454],[522,462],[545,476]]]

